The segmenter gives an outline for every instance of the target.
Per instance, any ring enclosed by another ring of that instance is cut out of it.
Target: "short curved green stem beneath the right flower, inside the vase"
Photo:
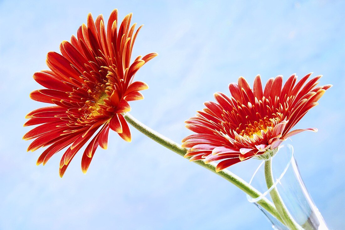
[[[265,178],[266,178],[266,184],[267,184],[267,189],[271,188],[274,184],[274,178],[272,174],[272,157],[270,157],[268,160],[265,161]],[[282,217],[285,225],[292,230],[300,230],[302,229],[298,223],[293,219],[289,211],[287,210],[283,199],[280,197],[278,190],[276,187],[274,187],[270,193],[272,201],[277,208],[277,211]]]

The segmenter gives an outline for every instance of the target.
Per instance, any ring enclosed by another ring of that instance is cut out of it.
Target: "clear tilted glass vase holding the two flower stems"
[[[321,213],[316,208],[302,181],[294,158],[293,146],[290,144],[281,145],[278,148],[278,152],[273,156],[272,173],[275,183],[269,189],[267,189],[265,181],[264,165],[265,161],[262,160],[262,163],[259,164],[249,182],[262,193],[262,196],[253,199],[247,195],[247,199],[262,210],[269,221],[272,222],[272,228],[277,230],[289,229],[265,209],[261,208],[257,202],[264,197],[272,201],[270,192],[276,188],[290,216],[300,226],[300,229],[327,230],[328,228]]]

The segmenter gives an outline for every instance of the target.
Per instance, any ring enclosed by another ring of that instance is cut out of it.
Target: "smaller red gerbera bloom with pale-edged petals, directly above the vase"
[[[296,85],[295,74],[284,85],[283,76],[270,78],[264,90],[259,75],[253,89],[240,77],[238,84],[229,85],[230,98],[215,93],[217,103],[205,102],[206,108],[186,121],[186,127],[197,134],[183,139],[182,146],[190,148],[185,157],[205,163],[220,160],[216,167],[220,171],[273,150],[297,133],[316,132],[316,128],[290,131],[332,86],[317,86],[321,75],[306,82],[309,76]]]

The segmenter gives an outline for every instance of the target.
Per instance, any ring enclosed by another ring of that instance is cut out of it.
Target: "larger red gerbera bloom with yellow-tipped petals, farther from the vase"
[[[133,77],[157,54],[138,56],[131,64],[134,41],[142,26],[136,31],[136,23],[130,26],[130,13],[118,27],[117,15],[117,9],[111,12],[105,28],[102,15],[94,22],[89,13],[87,26],[79,27],[77,38],[73,35],[71,42],[61,43],[62,55],[48,53],[50,70],[33,75],[47,89],[35,90],[30,97],[54,105],[35,109],[26,116],[30,119],[24,126],[41,125],[26,133],[23,139],[36,138],[28,151],[50,145],[38,158],[37,165],[44,165],[53,154],[69,146],[60,161],[61,177],[93,134],[96,133],[81,160],[84,173],[98,145],[107,148],[109,128],[125,141],[131,141],[122,113],[130,111],[128,101],[144,98],[138,91],[148,86],[144,82],[133,82]]]

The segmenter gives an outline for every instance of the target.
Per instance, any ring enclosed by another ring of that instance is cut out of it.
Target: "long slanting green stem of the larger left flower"
[[[129,113],[124,114],[126,121],[139,130],[141,133],[145,134],[146,136],[150,137],[152,140],[156,141],[157,143],[161,144],[162,146],[168,148],[169,150],[179,154],[180,156],[184,156],[187,153],[187,149],[181,147],[181,145],[177,144],[174,141],[171,141],[169,138],[157,133],[156,131],[152,130],[151,128],[147,127],[146,125],[139,122],[136,118],[134,118]],[[247,193],[252,198],[257,198],[262,195],[259,191],[257,191],[253,186],[245,182],[243,179],[239,178],[234,173],[223,170],[220,172],[216,172],[216,167],[214,164],[205,164],[204,161],[194,161],[194,163],[203,166],[204,168],[210,170],[221,176],[222,178],[226,179],[227,181],[233,183],[239,189]],[[267,198],[262,198],[257,202],[261,207],[266,209],[270,214],[272,214],[277,220],[284,223],[282,218],[280,217],[278,211]]]

